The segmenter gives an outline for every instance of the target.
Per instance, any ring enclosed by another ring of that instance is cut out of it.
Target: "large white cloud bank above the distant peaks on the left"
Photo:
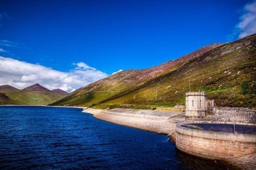
[[[63,72],[0,56],[0,85],[9,84],[22,89],[39,83],[49,89],[60,88],[70,92],[108,76],[86,63],[75,65],[74,69]]]

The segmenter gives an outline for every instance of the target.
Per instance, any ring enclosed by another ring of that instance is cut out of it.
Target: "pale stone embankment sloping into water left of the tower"
[[[84,108],[83,112],[91,113],[94,117],[107,122],[146,130],[159,134],[166,134],[175,141],[176,125],[184,122],[184,112],[112,109],[99,110]]]

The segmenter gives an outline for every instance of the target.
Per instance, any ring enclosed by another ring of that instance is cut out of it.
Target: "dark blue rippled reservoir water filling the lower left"
[[[0,106],[0,169],[227,169],[77,108]]]

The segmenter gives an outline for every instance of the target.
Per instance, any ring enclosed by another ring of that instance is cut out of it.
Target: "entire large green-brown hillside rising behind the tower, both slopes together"
[[[184,104],[184,94],[189,91],[190,79],[192,91],[206,91],[218,106],[255,107],[255,93],[241,93],[241,83],[244,81],[255,89],[255,41],[254,35],[220,45],[199,57],[181,61],[160,74],[153,75],[153,78],[147,76],[140,80],[136,76],[140,70],[123,71],[81,88],[53,105],[95,108],[125,105],[174,106]],[[140,76],[144,74],[143,72]],[[127,81],[127,77],[131,77],[133,81]]]

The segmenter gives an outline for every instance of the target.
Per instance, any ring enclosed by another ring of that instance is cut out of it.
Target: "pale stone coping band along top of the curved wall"
[[[189,135],[189,136],[196,136],[196,137],[209,138],[209,139],[256,143],[256,135],[254,134],[204,131],[204,130],[198,130],[198,129],[185,128],[185,127],[182,127],[182,125],[186,126],[190,124],[176,125],[176,132]]]

